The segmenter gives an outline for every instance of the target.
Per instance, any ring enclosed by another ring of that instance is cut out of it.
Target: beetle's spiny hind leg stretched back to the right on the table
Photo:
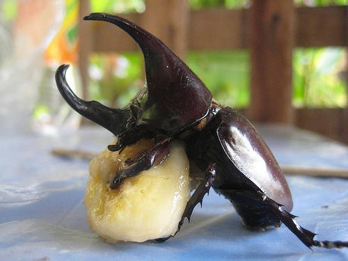
[[[324,247],[324,248],[342,248],[348,247],[348,242],[342,241],[319,241],[314,240],[315,233],[306,230],[306,228],[302,228],[299,224],[294,220],[296,216],[290,214],[289,212],[283,209],[283,206],[276,203],[271,198],[267,196],[263,196],[263,203],[267,206],[268,209],[271,210],[278,218],[289,228],[295,235],[298,237],[303,244],[308,246],[308,248],[312,248],[312,246]]]

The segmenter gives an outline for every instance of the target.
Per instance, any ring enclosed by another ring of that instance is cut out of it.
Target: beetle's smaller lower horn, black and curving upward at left
[[[110,132],[118,136],[125,132],[127,120],[131,117],[129,109],[112,109],[100,104],[99,102],[86,102],[75,95],[69,87],[65,72],[69,65],[61,65],[56,71],[56,84],[59,92],[72,109],[82,116],[92,120],[98,125],[109,129]]]

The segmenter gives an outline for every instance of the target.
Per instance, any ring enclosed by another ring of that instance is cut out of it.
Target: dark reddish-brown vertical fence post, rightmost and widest
[[[262,122],[292,122],[292,0],[253,0],[249,19],[251,106]]]

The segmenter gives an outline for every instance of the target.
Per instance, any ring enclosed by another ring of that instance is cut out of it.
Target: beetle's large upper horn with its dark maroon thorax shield
[[[122,17],[92,13],[84,19],[115,24],[132,36],[141,47],[148,84],[147,105],[155,104],[155,111],[161,114],[156,119],[157,127],[171,130],[171,120],[177,120],[173,129],[180,129],[207,115],[212,94],[161,40]]]

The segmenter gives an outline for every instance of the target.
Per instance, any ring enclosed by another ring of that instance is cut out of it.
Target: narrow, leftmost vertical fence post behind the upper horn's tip
[[[79,1],[79,15],[78,15],[78,29],[79,29],[79,72],[81,76],[82,84],[82,98],[88,100],[88,66],[89,56],[92,49],[92,31],[90,28],[90,22],[85,22],[84,16],[90,14],[90,1]]]

